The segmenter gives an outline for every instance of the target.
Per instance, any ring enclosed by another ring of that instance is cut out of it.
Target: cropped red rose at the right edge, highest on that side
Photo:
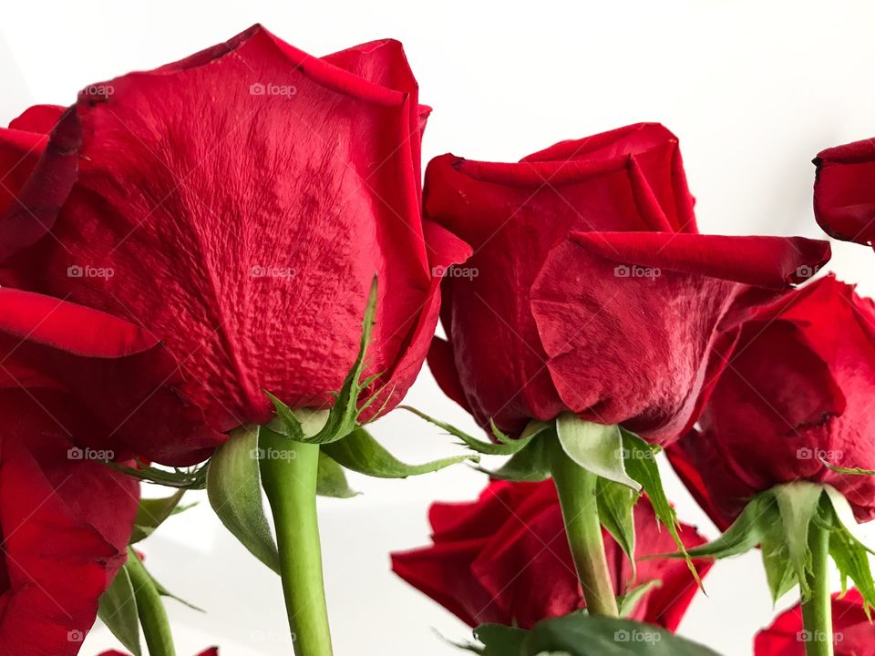
[[[875,237],[875,143],[863,139],[814,159],[814,216],[830,237],[869,244]]]

